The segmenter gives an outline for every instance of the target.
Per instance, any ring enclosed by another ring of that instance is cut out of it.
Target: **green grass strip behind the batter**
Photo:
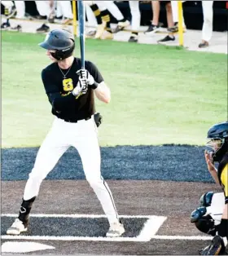
[[[2,32],[2,148],[39,146],[51,126],[43,39]],[[208,128],[227,119],[227,55],[96,40],[86,41],[85,55],[112,90],[110,104],[96,102],[102,146],[201,145]]]

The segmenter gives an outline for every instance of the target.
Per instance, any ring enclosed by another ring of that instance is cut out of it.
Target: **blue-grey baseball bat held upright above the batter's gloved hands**
[[[82,0],[77,1],[77,13],[79,20],[79,38],[81,49],[81,68],[85,68],[85,7]]]

